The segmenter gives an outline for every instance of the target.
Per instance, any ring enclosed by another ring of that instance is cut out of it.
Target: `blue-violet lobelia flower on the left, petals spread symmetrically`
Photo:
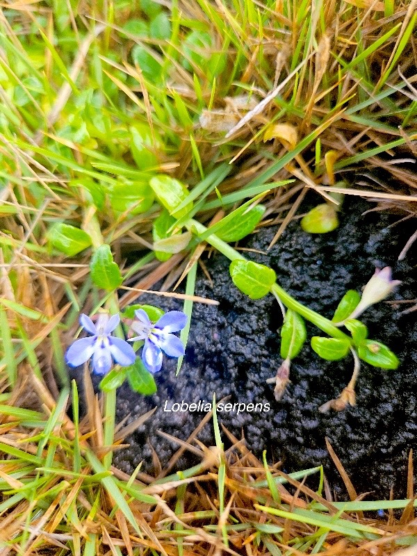
[[[109,318],[106,313],[101,313],[95,325],[90,317],[81,314],[80,324],[92,336],[76,340],[68,348],[65,354],[68,365],[78,367],[92,357],[92,372],[97,375],[108,373],[113,363],[112,359],[123,367],[132,365],[136,354],[131,345],[111,335],[119,322],[119,315]]]

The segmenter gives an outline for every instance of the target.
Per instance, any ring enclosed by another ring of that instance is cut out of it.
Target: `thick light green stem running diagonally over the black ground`
[[[199,234],[204,234],[204,232],[206,232],[207,230],[207,228],[203,224],[200,224],[193,219],[188,220],[188,222],[186,222],[185,224],[185,227],[188,229],[188,231],[197,233],[197,236]],[[234,248],[231,247],[229,244],[225,243],[220,238],[215,236],[215,234],[211,234],[211,236],[206,237],[205,240],[207,243],[210,243],[210,245],[213,245],[213,247],[220,251],[220,253],[224,254],[224,256],[227,256],[227,259],[230,259],[230,261],[236,261],[236,259],[246,261],[243,255],[234,250]],[[293,309],[293,311],[299,313],[306,320],[313,322],[313,325],[316,325],[316,327],[320,328],[320,330],[322,330],[326,334],[329,334],[329,336],[332,336],[332,338],[341,338],[349,341],[351,340],[350,336],[347,336],[347,334],[344,334],[341,330],[334,326],[331,320],[321,316],[319,313],[316,313],[316,311],[312,311],[302,303],[295,300],[294,297],[292,297],[289,293],[286,293],[286,291],[278,284],[273,284],[271,287],[271,291],[272,293],[275,293],[277,297],[279,297],[281,302],[283,302],[288,309]]]

